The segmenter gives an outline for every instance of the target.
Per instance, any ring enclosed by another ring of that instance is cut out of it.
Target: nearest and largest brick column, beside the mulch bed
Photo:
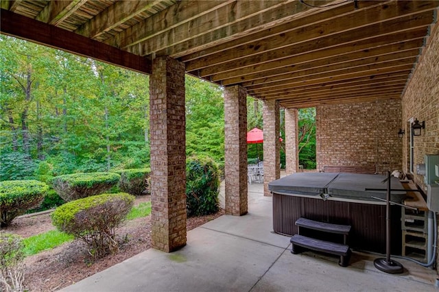
[[[154,59],[150,76],[152,246],[186,245],[185,65]]]

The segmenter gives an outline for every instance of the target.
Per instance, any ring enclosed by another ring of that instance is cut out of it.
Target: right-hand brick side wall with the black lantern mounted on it
[[[423,163],[425,154],[439,154],[439,25],[432,27],[412,78],[402,97],[401,127],[403,170],[410,171],[410,119],[425,121],[421,136],[414,137],[414,164]],[[416,171],[415,171],[416,172]],[[422,175],[414,173],[416,184],[425,189]]]

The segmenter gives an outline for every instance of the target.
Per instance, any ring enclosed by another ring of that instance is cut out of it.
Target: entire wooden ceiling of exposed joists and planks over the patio
[[[439,1],[361,0],[1,1],[3,14],[10,10],[67,29],[145,62],[168,55],[184,62],[191,75],[222,86],[240,84],[252,97],[278,99],[285,108],[401,98],[438,6]]]

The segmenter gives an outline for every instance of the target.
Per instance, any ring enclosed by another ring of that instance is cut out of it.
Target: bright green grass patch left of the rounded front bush
[[[50,230],[48,232],[36,234],[23,239],[23,252],[25,256],[32,256],[34,254],[38,254],[38,252],[51,250],[58,245],[62,245],[62,243],[72,240],[72,235],[60,232],[58,230]]]

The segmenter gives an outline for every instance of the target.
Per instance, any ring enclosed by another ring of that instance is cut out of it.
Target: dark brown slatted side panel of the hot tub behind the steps
[[[392,254],[401,254],[401,207],[392,206],[391,210]],[[385,254],[385,206],[383,205],[273,194],[274,232],[291,236],[297,234],[298,228],[294,222],[300,217],[351,225],[352,231],[349,235],[351,247]],[[313,232],[309,233],[313,236]]]

